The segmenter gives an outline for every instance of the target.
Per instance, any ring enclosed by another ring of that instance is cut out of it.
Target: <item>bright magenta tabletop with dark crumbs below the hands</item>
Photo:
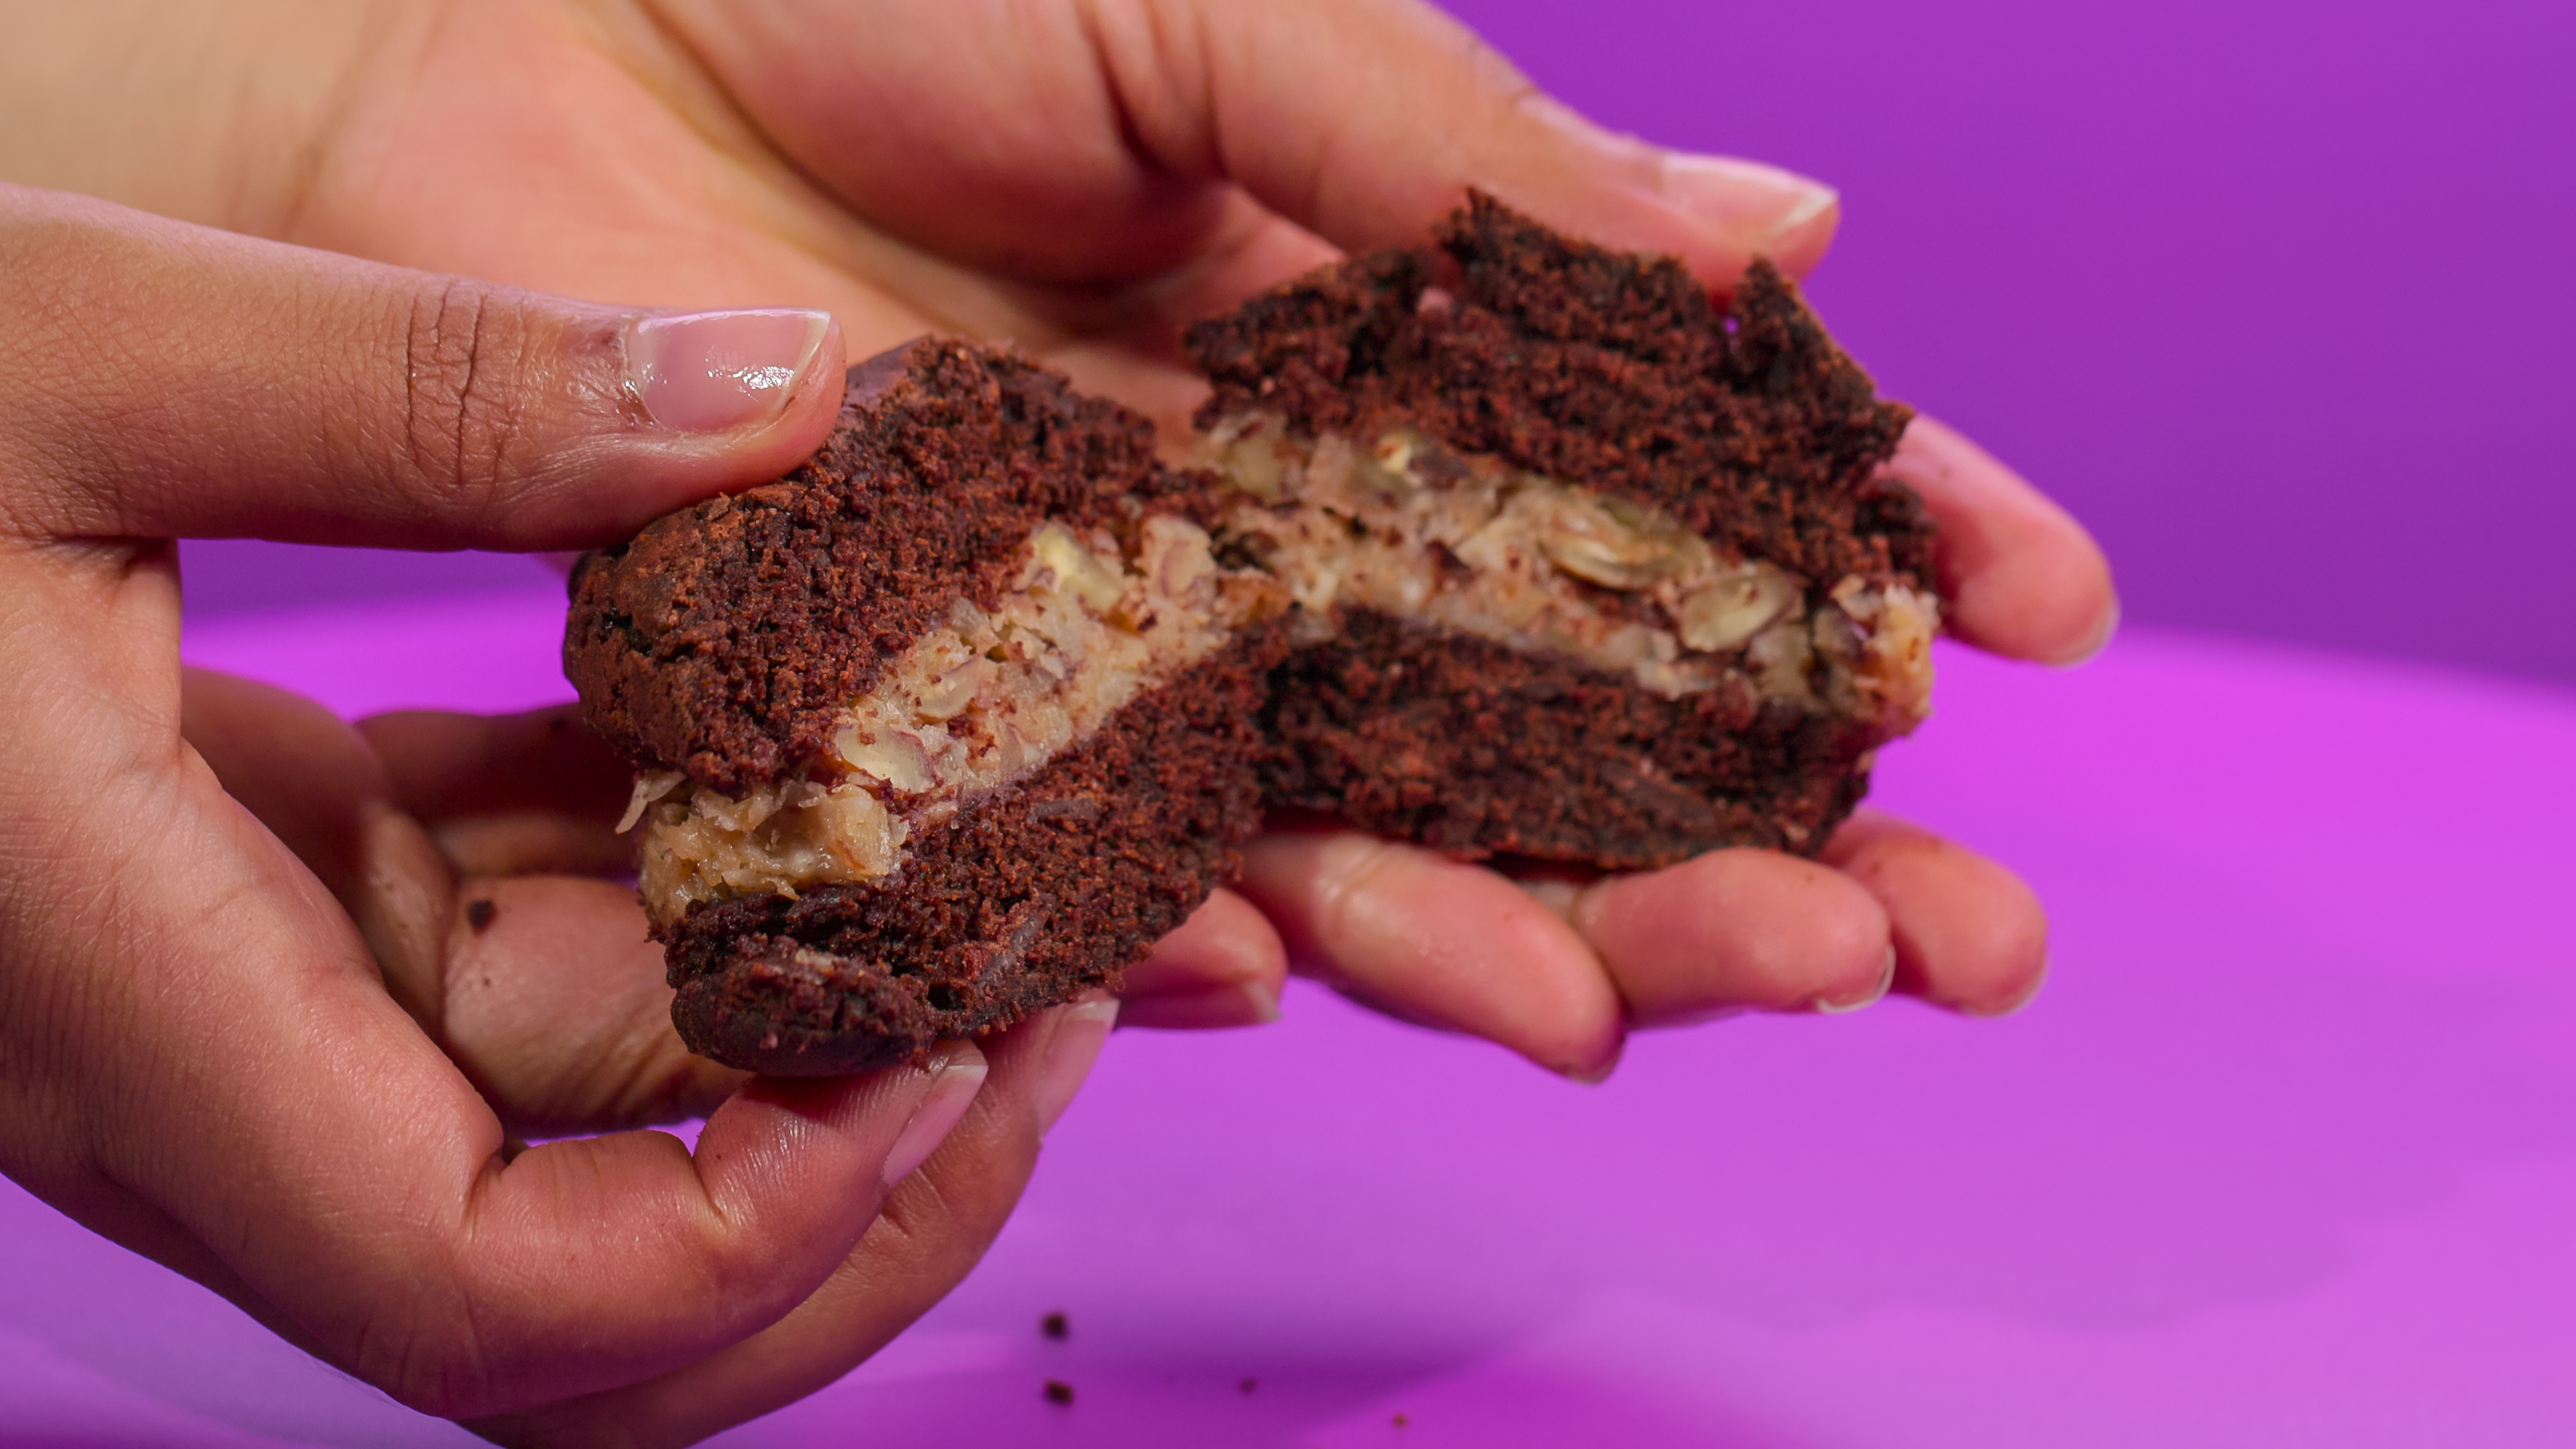
[[[188,650],[520,706],[556,621]],[[2048,895],[2027,1013],[1723,1021],[1602,1088],[1316,990],[1121,1034],[966,1287],[724,1444],[2576,1441],[2576,696],[2174,634],[1942,670],[1880,799]],[[0,1232],[0,1444],[469,1444],[13,1189]]]

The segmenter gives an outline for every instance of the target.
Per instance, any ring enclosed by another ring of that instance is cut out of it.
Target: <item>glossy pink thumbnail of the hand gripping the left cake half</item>
[[[680,433],[724,433],[786,413],[814,366],[829,312],[685,312],[626,327],[626,387],[644,413]]]

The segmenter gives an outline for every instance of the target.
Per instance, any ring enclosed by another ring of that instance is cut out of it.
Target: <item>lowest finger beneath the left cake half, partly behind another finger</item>
[[[992,1078],[840,1269],[770,1328],[657,1379],[471,1428],[502,1444],[693,1444],[799,1400],[884,1348],[966,1276],[1038,1160],[1046,1106],[1079,1083],[1097,1034],[1066,1008],[984,1039]]]

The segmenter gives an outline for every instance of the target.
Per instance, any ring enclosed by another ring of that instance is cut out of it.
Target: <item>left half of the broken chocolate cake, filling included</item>
[[[1151,425],[1005,351],[850,371],[793,474],[582,559],[690,1049],[855,1073],[1113,982],[1231,871],[1283,590]]]

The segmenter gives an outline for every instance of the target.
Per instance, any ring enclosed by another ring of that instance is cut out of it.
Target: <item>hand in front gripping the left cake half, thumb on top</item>
[[[1113,1003],[925,1067],[680,1052],[562,712],[178,663],[165,539],[556,549],[809,454],[809,312],[657,320],[0,188],[0,1168],[407,1405],[688,1441],[976,1261]],[[724,361],[732,358],[732,361]],[[778,382],[786,379],[786,382]],[[696,1155],[659,1132],[708,1111]]]

